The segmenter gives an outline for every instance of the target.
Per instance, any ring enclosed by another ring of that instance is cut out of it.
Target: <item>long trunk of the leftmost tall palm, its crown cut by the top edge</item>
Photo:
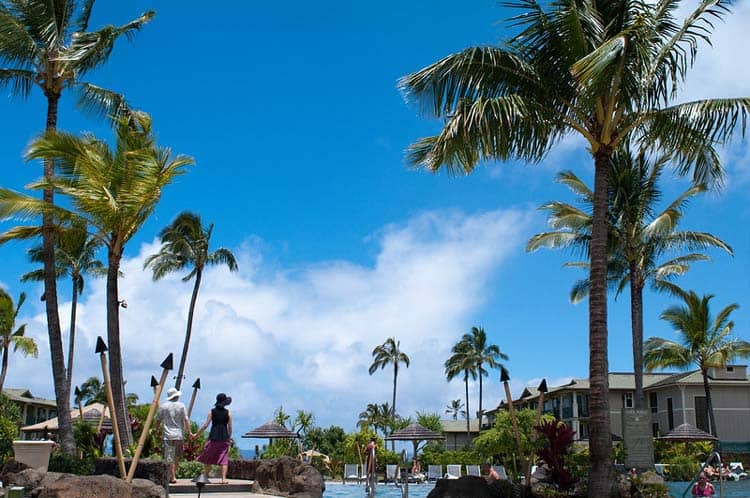
[[[57,108],[60,95],[47,94],[47,132],[57,129]],[[44,161],[44,178],[55,175],[55,165],[51,159]],[[54,204],[52,189],[44,189],[43,200]],[[55,387],[55,403],[58,417],[58,438],[60,448],[66,455],[76,454],[73,439],[73,420],[70,417],[70,387],[67,385],[65,357],[63,354],[60,316],[57,306],[57,275],[55,274],[55,220],[51,213],[42,214],[42,257],[44,259],[44,308],[47,314],[47,334],[49,335],[50,359],[52,361],[52,382]]]

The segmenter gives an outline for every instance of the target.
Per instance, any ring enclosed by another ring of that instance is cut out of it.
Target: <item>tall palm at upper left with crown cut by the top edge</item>
[[[153,16],[146,12],[122,26],[105,26],[88,31],[94,0],[0,0],[0,88],[9,87],[15,96],[26,98],[38,87],[47,100],[45,130],[57,128],[58,104],[66,89],[78,93],[79,105],[107,114],[124,108],[123,98],[111,91],[80,80],[109,59],[116,40],[132,38]],[[44,177],[54,175],[54,163],[44,162]],[[51,188],[43,192],[52,205]],[[55,221],[51,212],[42,216],[44,293],[50,342],[59,437],[63,452],[75,454],[70,418],[70,385],[65,372],[62,334],[57,310],[54,262]],[[66,390],[65,387],[68,387]]]

